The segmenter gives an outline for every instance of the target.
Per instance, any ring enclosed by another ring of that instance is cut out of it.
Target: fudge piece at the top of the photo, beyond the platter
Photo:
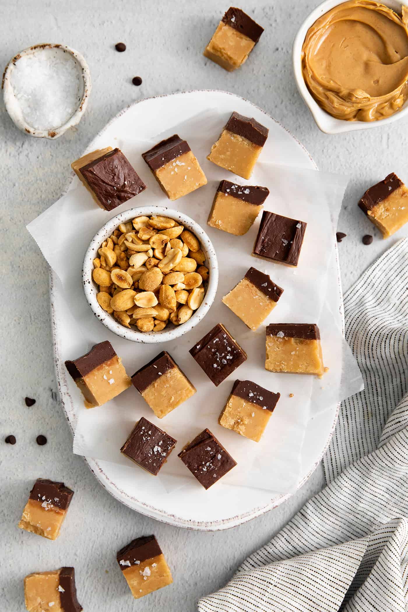
[[[231,6],[219,22],[204,55],[232,72],[247,60],[262,32],[263,28],[249,15]]]

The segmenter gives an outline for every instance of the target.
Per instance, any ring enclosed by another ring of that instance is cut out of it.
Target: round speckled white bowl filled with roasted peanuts
[[[114,334],[141,343],[174,340],[203,319],[218,285],[205,231],[182,212],[143,206],[111,218],[82,269],[86,300]]]

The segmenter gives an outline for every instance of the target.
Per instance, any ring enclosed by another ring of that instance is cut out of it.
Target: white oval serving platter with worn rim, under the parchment
[[[116,141],[125,138],[127,134],[135,133],[137,125],[151,125],[151,137],[168,128],[177,125],[185,116],[200,113],[208,108],[217,108],[220,113],[236,110],[246,116],[254,116],[268,129],[269,138],[279,138],[281,146],[276,151],[273,162],[285,165],[303,166],[303,168],[316,169],[316,166],[306,149],[288,132],[279,122],[271,118],[248,100],[238,95],[224,91],[199,90],[177,92],[175,94],[161,95],[140,102],[135,102],[121,111],[113,118],[89,144],[88,151],[106,146],[109,140],[113,146]],[[118,144],[120,146],[120,144]],[[67,190],[74,188],[74,173],[71,174]],[[194,214],[192,213],[192,217]],[[342,293],[340,283],[337,249],[335,257],[330,262],[327,285],[327,302],[333,313],[334,323],[344,329],[344,315],[342,310]],[[69,350],[72,327],[67,326],[70,314],[64,302],[61,283],[55,273],[50,276],[51,321],[53,329],[53,347],[56,364],[56,378],[59,394],[67,420],[72,431],[75,430],[78,403],[69,392],[70,381],[62,356]],[[93,313],[89,309],[89,317]],[[135,346],[135,343],[132,343]],[[300,487],[312,474],[328,447],[333,430],[336,425],[339,406],[333,406],[320,415],[319,419],[309,420],[306,429],[303,449],[301,453]],[[180,490],[178,494],[164,496],[162,492],[142,490],[135,487],[134,477],[129,477],[129,471],[123,470],[121,465],[108,461],[86,458],[89,468],[94,476],[116,499],[126,506],[137,510],[151,518],[168,524],[203,531],[217,531],[227,529],[252,518],[258,517],[268,510],[282,504],[291,494],[279,494],[271,498],[267,490],[243,487],[219,488],[216,504],[203,503],[203,495],[186,494]],[[201,493],[201,491],[200,491]]]

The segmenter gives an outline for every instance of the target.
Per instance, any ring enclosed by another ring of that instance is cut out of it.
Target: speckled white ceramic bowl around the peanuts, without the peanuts
[[[124,327],[113,315],[109,315],[97,302],[96,294],[99,291],[98,286],[92,279],[93,271],[93,260],[98,257],[98,249],[102,242],[108,239],[111,233],[116,230],[119,223],[126,223],[131,221],[135,217],[151,215],[161,215],[162,217],[170,217],[175,219],[179,225],[184,225],[187,230],[192,231],[201,243],[201,248],[206,255],[206,266],[209,270],[208,283],[206,283],[206,292],[202,305],[194,311],[191,318],[179,326],[170,329],[165,327],[161,332],[140,332],[137,329],[128,329]],[[191,217],[187,217],[182,212],[174,211],[165,206],[142,206],[140,208],[132,208],[129,211],[121,212],[116,217],[111,218],[110,221],[100,228],[99,232],[95,234],[89,244],[88,250],[85,253],[82,267],[82,281],[83,288],[85,291],[86,301],[91,307],[94,315],[99,319],[105,327],[111,330],[114,334],[126,340],[132,340],[134,342],[142,342],[147,344],[155,344],[161,342],[167,342],[168,340],[175,340],[180,336],[189,332],[199,321],[201,321],[208,310],[210,310],[211,304],[213,304],[214,297],[217,291],[218,285],[218,262],[216,252],[210,238],[207,236],[205,231],[196,223]]]

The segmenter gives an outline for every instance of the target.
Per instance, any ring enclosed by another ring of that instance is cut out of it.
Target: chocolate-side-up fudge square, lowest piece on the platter
[[[209,489],[236,466],[230,453],[208,429],[184,446],[178,457],[205,489]]]

